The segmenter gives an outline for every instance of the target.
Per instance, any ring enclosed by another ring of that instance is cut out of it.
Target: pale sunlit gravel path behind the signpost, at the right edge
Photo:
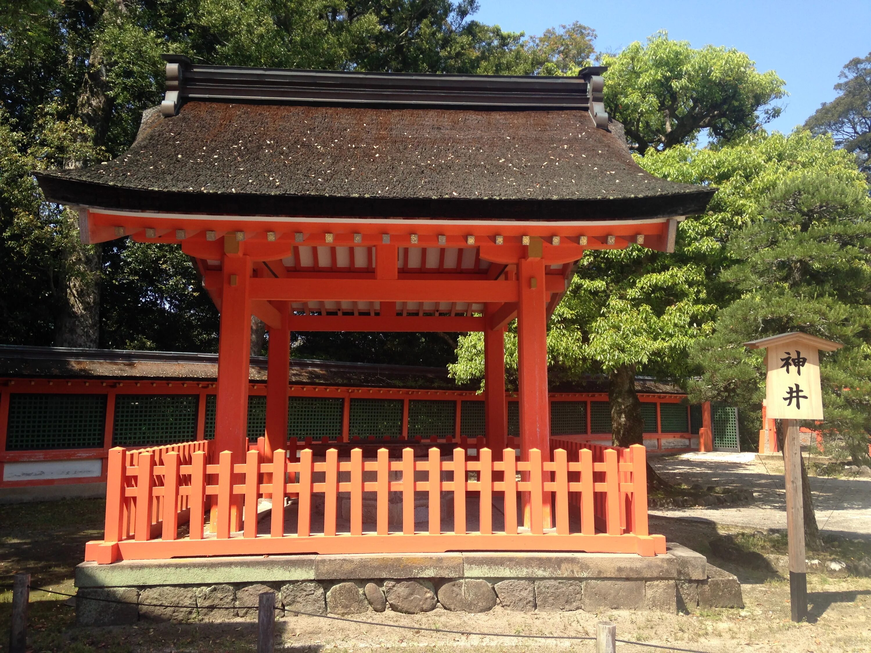
[[[694,517],[749,528],[787,528],[783,465],[755,460],[754,454],[681,454],[654,458],[666,480],[688,485],[753,489],[750,505],[661,508],[652,515]],[[812,476],[814,511],[820,529],[871,535],[871,481]]]

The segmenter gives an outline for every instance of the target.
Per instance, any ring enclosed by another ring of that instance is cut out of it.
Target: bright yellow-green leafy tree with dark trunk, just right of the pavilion
[[[651,149],[638,163],[658,177],[714,185],[719,191],[703,215],[680,223],[673,254],[638,246],[584,254],[570,292],[550,320],[549,362],[559,374],[611,375],[618,410],[612,427],[615,441],[622,444],[641,441],[643,428],[633,408],[633,368],[658,376],[698,373],[698,361],[689,360],[692,342],[712,332],[717,309],[741,297],[740,288],[724,278],[741,261],[729,243],[760,219],[770,193],[805,175],[848,178],[850,183],[861,179],[851,155],[836,149],[831,138],[808,131],[789,136],[760,132],[704,149]],[[510,369],[517,366],[513,329],[506,339]],[[457,354],[451,370],[459,380],[483,376],[480,334],[461,338]],[[738,402],[742,419],[751,411],[759,413],[753,401]]]

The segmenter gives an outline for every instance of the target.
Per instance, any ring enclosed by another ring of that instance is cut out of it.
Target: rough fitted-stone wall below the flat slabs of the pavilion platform
[[[487,612],[497,605],[518,612],[635,609],[673,613],[695,607],[743,607],[738,579],[712,565],[708,569],[705,580],[400,578],[83,588],[78,590],[76,613],[82,626],[138,620],[254,621],[258,595],[269,590],[278,595],[276,618],[280,619],[297,614],[362,615],[385,609],[409,615],[434,609]]]

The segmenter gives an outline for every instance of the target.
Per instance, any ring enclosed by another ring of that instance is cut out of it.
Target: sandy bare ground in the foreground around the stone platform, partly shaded
[[[871,486],[869,486],[871,487]],[[59,591],[72,590],[72,569],[81,560],[84,541],[98,533],[103,502],[55,502],[0,506],[0,576],[17,569],[34,572],[34,582]],[[773,512],[773,511],[770,511]],[[733,527],[705,521],[652,517],[652,529],[673,542],[696,549]],[[712,561],[713,562],[713,561]],[[592,636],[596,623],[617,624],[620,639],[672,645],[704,653],[794,651],[796,653],[868,653],[871,651],[871,579],[830,579],[810,575],[811,623],[789,621],[788,583],[761,573],[714,562],[737,574],[742,582],[745,609],[693,609],[690,614],[605,611],[517,613],[497,606],[481,615],[436,609],[422,615],[392,612],[356,616],[366,625],[317,617],[287,616],[276,624],[280,645],[294,653],[493,653],[578,651],[592,653],[589,641],[553,641],[477,635],[432,633],[422,628],[541,635]],[[0,633],[8,632],[10,592],[0,589]],[[33,651],[64,653],[169,653],[170,651],[254,650],[252,622],[148,623],[117,628],[76,628],[73,611],[64,599],[35,592],[30,607]],[[385,628],[380,624],[407,624],[413,629]],[[0,653],[5,642],[0,642]],[[651,651],[621,643],[623,653]]]

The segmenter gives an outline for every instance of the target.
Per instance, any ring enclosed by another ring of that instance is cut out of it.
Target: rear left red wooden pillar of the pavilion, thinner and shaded
[[[267,437],[264,459],[272,462],[273,451],[287,449],[287,386],[290,383],[290,325],[287,302],[281,302],[281,327],[269,328],[267,361]]]

